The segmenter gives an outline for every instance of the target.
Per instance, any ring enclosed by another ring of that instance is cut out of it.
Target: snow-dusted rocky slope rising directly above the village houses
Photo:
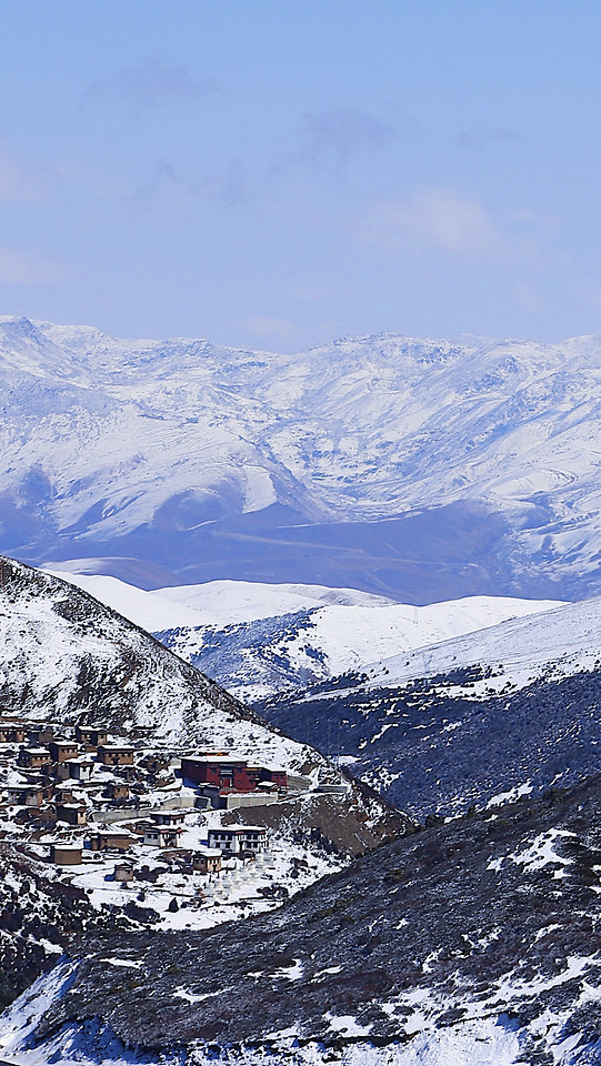
[[[87,593],[11,560],[0,564],[3,707],[279,765],[320,762]]]

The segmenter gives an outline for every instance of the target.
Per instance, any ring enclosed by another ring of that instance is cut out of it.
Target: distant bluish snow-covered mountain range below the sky
[[[2,319],[0,549],[147,587],[590,595],[600,366],[598,338],[280,355]]]

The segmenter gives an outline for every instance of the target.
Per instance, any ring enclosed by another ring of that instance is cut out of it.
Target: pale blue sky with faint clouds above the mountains
[[[601,333],[599,0],[0,0],[0,313]]]

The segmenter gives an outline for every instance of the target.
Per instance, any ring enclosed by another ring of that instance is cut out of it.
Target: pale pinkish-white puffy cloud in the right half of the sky
[[[408,200],[381,201],[365,230],[389,251],[430,248],[465,259],[502,258],[510,251],[482,203],[453,189],[422,189]]]

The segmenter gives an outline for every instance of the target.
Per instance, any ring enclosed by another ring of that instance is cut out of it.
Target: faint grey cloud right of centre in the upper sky
[[[338,108],[304,114],[298,137],[300,147],[286,157],[284,164],[325,161],[344,167],[351,155],[382,148],[394,131],[367,111]]]

